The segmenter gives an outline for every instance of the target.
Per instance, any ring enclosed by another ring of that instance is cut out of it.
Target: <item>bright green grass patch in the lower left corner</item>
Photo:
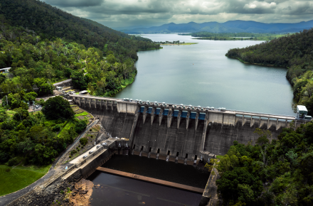
[[[0,196],[9,193],[14,193],[17,190],[21,190],[31,183],[35,182],[39,178],[45,175],[51,165],[43,166],[41,168],[31,167],[9,167],[5,165],[0,165]],[[10,172],[6,172],[6,169],[10,168]]]

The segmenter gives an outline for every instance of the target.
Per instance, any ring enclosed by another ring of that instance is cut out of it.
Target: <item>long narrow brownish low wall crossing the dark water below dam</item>
[[[112,169],[109,169],[109,168],[98,167],[97,170],[99,170],[101,172],[104,172],[104,173],[120,175],[120,176],[123,176],[123,177],[126,177],[126,178],[142,180],[142,181],[145,181],[145,182],[148,182],[148,183],[155,183],[155,184],[159,184],[159,185],[165,185],[165,186],[168,186],[168,187],[171,187],[171,188],[178,188],[178,189],[181,189],[181,190],[187,190],[187,191],[190,191],[190,192],[193,192],[193,193],[200,193],[200,194],[202,194],[203,191],[204,191],[204,189],[201,189],[201,188],[194,188],[194,187],[191,187],[191,186],[188,186],[188,185],[181,185],[181,184],[178,184],[178,183],[171,183],[171,182],[164,181],[164,180],[159,180],[159,179],[155,179],[155,178],[148,178],[148,177],[145,177],[145,176],[142,176],[142,175],[135,175],[135,174],[132,174],[132,173],[125,173],[125,172],[122,172],[122,171],[119,171],[119,170],[112,170]]]

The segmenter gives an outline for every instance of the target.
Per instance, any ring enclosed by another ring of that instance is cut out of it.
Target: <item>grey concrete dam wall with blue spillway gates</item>
[[[112,137],[128,139],[132,153],[166,156],[166,161],[207,160],[226,154],[233,141],[255,143],[256,128],[270,130],[270,139],[277,139],[282,128],[296,129],[306,122],[295,116],[67,95],[99,119]]]

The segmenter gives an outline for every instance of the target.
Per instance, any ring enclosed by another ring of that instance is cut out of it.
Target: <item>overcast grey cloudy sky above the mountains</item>
[[[252,20],[295,23],[313,19],[306,0],[43,0],[110,28],[194,21]]]

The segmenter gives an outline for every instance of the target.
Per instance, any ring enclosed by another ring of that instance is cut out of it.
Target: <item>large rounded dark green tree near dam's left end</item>
[[[68,119],[74,116],[73,109],[70,107],[68,100],[60,96],[49,98],[42,112],[48,119]]]

